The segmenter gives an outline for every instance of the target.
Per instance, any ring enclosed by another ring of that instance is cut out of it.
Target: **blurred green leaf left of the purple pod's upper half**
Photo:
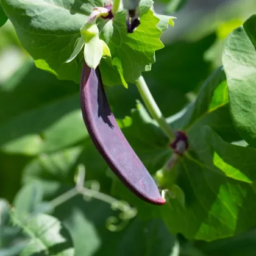
[[[12,130],[12,133],[9,131]],[[5,152],[37,155],[71,146],[87,137],[78,94],[15,116],[0,126]]]

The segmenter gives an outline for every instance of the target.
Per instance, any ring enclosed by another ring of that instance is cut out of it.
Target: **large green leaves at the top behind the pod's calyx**
[[[140,2],[141,26],[134,34],[126,34],[124,11],[116,13],[113,23],[112,20],[108,21],[103,27],[102,38],[112,54],[112,64],[108,66],[103,60],[101,65],[105,85],[123,82],[126,86],[126,82],[135,82],[141,72],[149,71],[151,64],[155,62],[155,51],[163,48],[163,43],[159,39],[162,30],[157,27],[159,18],[154,16],[150,9],[152,4],[152,1]],[[40,0],[37,3],[26,0],[3,0],[2,5],[15,26],[21,43],[32,55],[37,67],[55,74],[59,79],[74,80],[78,84],[83,54],[79,54],[73,62],[65,62],[73,52],[80,28],[87,21],[88,13],[94,6],[101,7],[101,2],[88,1],[76,4],[73,1],[64,3],[57,0]],[[161,27],[166,28],[168,25],[165,24],[169,23],[169,18],[162,18]],[[96,45],[88,51],[98,51],[98,47],[95,47]],[[90,63],[93,60],[94,56],[91,55]],[[118,72],[118,79],[109,80],[109,72]]]

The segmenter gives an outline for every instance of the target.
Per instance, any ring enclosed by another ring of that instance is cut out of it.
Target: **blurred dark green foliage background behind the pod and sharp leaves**
[[[202,82],[221,65],[223,40],[256,13],[255,0],[191,0],[173,12],[176,2],[155,3],[156,12],[167,11],[177,20],[162,36],[165,48],[156,52],[152,71],[144,74],[166,117],[193,101]],[[141,101],[134,85],[128,90],[108,87],[107,96],[118,119],[131,116],[137,99]],[[149,171],[168,158],[169,152],[164,152],[152,160],[148,154],[157,148],[145,150],[148,145],[140,141],[136,124],[124,133],[131,144],[142,145],[135,151]],[[102,193],[122,199],[122,194],[113,193],[112,174],[88,137],[79,85],[35,68],[8,21],[0,29],[0,256],[19,255],[26,241],[20,229],[10,225],[7,201],[13,204],[22,187],[18,195],[26,201],[27,191],[35,188],[25,191],[24,186],[32,180],[42,188],[45,201],[55,198],[74,187],[79,164],[85,166],[86,180],[98,182]],[[158,218],[137,216],[121,231],[112,232],[105,220],[116,214],[105,202],[79,196],[52,213],[71,233],[76,255],[256,255],[255,230],[212,243],[195,242],[169,234]]]

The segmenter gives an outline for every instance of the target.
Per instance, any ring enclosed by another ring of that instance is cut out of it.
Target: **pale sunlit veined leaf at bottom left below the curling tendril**
[[[49,215],[40,214],[24,226],[31,237],[21,256],[60,255],[73,256],[73,242],[62,223]]]

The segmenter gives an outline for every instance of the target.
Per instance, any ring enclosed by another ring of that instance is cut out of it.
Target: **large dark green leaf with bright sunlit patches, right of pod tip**
[[[188,136],[190,151],[177,166],[186,208],[176,199],[161,207],[169,231],[211,241],[255,226],[256,150],[229,144],[207,126]]]

